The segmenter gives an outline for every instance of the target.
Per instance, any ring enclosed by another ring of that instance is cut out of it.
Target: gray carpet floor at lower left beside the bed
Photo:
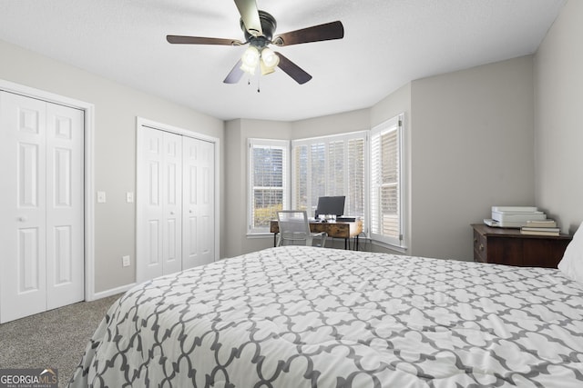
[[[56,368],[59,387],[66,386],[91,335],[119,296],[0,324],[0,369]]]

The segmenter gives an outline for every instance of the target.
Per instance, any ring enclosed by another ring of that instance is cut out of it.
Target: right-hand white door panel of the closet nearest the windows
[[[214,144],[184,137],[182,269],[214,261]]]

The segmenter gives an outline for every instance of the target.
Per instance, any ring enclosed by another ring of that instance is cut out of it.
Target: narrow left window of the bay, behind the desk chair
[[[289,147],[285,140],[249,139],[249,234],[269,233],[288,204]]]

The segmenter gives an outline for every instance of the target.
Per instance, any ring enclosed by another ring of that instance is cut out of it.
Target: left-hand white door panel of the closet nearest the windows
[[[182,269],[182,136],[140,130],[138,282]]]

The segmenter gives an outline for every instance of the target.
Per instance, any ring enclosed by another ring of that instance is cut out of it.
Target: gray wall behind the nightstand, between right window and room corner
[[[532,56],[412,83],[410,254],[473,259],[470,224],[534,205]]]

